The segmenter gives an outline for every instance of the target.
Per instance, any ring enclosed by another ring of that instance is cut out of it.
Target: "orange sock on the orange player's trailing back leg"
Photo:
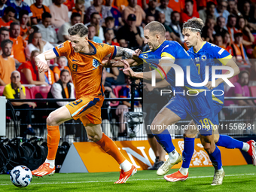
[[[115,143],[104,133],[102,133],[102,139],[100,139],[99,142],[96,142],[96,144],[98,144],[107,154],[114,157],[118,164],[121,164],[126,160],[117,148],[117,145],[115,145]]]

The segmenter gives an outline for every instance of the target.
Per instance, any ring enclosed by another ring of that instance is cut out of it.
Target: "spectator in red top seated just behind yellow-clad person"
[[[17,69],[20,72],[21,84],[49,85],[45,82],[44,73],[39,73],[35,66],[35,56],[38,55],[39,51],[33,50],[30,61],[23,62]]]

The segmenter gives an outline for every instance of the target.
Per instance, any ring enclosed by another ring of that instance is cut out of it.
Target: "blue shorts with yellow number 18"
[[[166,104],[172,112],[184,120],[190,115],[196,123],[200,134],[203,136],[212,135],[212,129],[215,124],[215,111],[212,102],[212,93],[200,93],[198,96],[175,96]]]

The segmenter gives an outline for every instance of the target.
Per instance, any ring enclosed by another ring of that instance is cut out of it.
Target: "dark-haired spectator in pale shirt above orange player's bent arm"
[[[41,38],[50,44],[56,44],[58,42],[56,31],[51,25],[51,15],[48,12],[44,12],[42,15],[42,23],[36,25],[41,32]]]

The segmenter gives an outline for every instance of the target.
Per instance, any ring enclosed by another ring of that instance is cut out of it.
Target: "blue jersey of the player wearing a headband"
[[[194,52],[193,47],[187,50],[187,53],[194,60],[194,63],[197,66],[197,72],[202,81],[206,78],[206,66],[209,66],[209,81],[212,81],[212,66],[225,66],[229,59],[232,58],[227,50],[206,41],[203,42],[202,47],[197,53]],[[216,70],[215,74],[222,74],[222,70]],[[221,91],[217,90],[222,90],[224,93],[224,84],[219,84],[218,87],[215,87],[213,90],[216,90],[215,95],[221,95]],[[222,96],[212,95],[212,99],[221,105],[224,104],[224,94]]]

